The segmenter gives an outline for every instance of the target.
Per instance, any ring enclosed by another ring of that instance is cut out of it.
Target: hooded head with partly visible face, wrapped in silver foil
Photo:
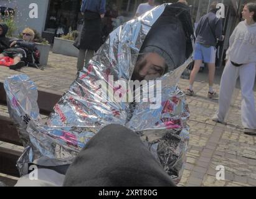
[[[192,33],[188,6],[166,6],[143,42],[132,80],[153,80],[182,65],[192,53]]]

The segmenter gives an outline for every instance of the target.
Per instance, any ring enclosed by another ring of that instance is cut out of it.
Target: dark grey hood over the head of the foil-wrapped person
[[[168,5],[146,36],[140,53],[158,53],[166,60],[168,72],[173,71],[191,55],[193,32],[189,7]]]

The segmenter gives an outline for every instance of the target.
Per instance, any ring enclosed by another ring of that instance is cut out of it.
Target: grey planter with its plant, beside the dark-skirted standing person
[[[73,46],[73,42],[78,37],[78,31],[73,30],[67,35],[62,35],[62,37],[54,37],[54,47],[52,52],[77,57],[79,50]]]

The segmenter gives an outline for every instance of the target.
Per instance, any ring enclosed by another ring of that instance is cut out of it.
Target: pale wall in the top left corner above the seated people
[[[38,18],[31,19],[29,17],[29,5],[36,3],[38,5]],[[15,21],[17,25],[17,33],[22,32],[25,27],[36,29],[39,33],[44,30],[45,20],[47,16],[49,0],[0,0],[0,6],[11,7],[16,11]]]

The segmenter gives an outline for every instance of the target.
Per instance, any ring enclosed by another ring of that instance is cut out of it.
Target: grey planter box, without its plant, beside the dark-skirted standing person
[[[54,38],[54,47],[52,52],[72,57],[78,57],[79,50],[73,46],[72,40]]]

